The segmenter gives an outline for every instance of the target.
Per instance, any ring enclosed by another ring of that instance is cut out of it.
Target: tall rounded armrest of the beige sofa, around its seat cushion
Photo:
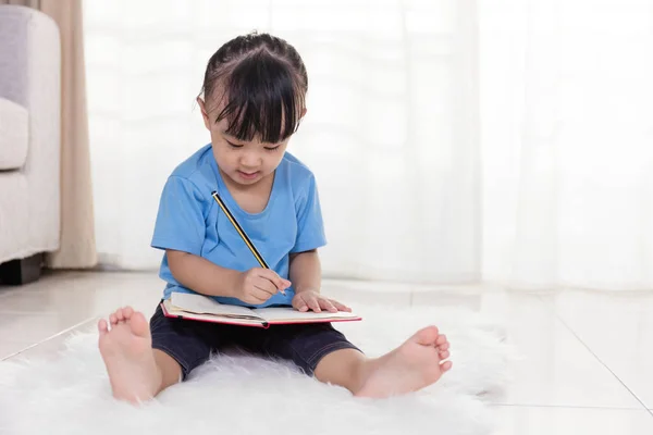
[[[0,98],[22,105],[28,114],[27,157],[16,182],[25,191],[5,192],[11,198],[2,198],[0,203],[26,208],[27,221],[15,232],[24,231],[29,239],[21,239],[16,246],[28,245],[35,252],[57,250],[61,222],[61,39],[54,21],[42,12],[0,5]]]

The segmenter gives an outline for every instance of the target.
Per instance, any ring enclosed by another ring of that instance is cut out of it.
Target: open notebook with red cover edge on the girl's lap
[[[278,324],[348,322],[361,320],[348,312],[299,312],[291,307],[250,309],[246,307],[219,303],[206,296],[186,293],[173,293],[170,299],[161,303],[168,318],[197,320],[204,322],[227,323],[243,326],[268,327]]]

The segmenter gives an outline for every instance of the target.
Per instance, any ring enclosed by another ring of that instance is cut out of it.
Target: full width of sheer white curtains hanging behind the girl
[[[653,284],[651,1],[86,0],[100,261],[157,268],[165,177],[206,144],[211,53],[271,32],[309,73],[291,152],[328,276]]]

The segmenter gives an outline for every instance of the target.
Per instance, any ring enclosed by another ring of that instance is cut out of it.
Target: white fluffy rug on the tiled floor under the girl
[[[97,334],[73,336],[61,355],[0,363],[0,433],[8,434],[446,434],[492,430],[488,394],[507,381],[510,348],[500,325],[471,311],[389,309],[337,327],[369,356],[436,324],[454,368],[440,383],[391,399],[356,399],[284,362],[220,356],[139,408],[113,400]],[[5,432],[3,432],[5,431]]]

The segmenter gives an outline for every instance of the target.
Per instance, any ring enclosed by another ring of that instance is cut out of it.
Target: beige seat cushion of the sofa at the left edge
[[[0,98],[0,171],[23,167],[29,139],[27,109]]]

